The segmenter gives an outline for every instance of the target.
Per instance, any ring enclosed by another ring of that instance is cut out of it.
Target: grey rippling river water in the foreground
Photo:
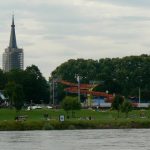
[[[150,150],[150,129],[2,131],[0,150]]]

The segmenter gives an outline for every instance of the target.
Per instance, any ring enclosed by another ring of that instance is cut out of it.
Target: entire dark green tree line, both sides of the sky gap
[[[99,85],[94,91],[120,94],[125,97],[138,97],[141,89],[141,100],[150,100],[150,56],[128,56],[123,58],[70,59],[58,66],[52,73],[50,80],[63,79],[76,82],[75,75],[82,77],[81,83],[95,83]],[[58,83],[55,87],[57,103],[66,96],[65,86]],[[23,99],[20,103],[49,103],[49,83],[43,77],[37,66],[28,66],[25,70],[0,70],[0,90],[9,97],[10,103],[17,103],[16,99]],[[21,94],[18,94],[20,91]],[[68,93],[67,93],[68,94]],[[19,97],[22,95],[23,98]],[[82,95],[81,95],[82,100]],[[19,106],[18,106],[19,107]]]

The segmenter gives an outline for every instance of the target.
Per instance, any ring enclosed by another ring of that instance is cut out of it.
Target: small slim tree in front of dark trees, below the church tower
[[[14,91],[12,94],[12,100],[14,107],[17,111],[21,110],[22,106],[24,105],[24,94],[23,94],[23,88],[21,85],[16,84],[14,87]]]

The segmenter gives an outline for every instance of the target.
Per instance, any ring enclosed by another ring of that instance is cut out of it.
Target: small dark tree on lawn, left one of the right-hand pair
[[[123,102],[124,102],[124,98],[121,95],[116,95],[111,104],[112,109],[117,110],[118,118],[119,118],[119,112],[121,110],[121,105]]]

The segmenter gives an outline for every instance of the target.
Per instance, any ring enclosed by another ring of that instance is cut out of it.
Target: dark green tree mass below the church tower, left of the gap
[[[25,103],[31,103],[31,100],[32,103],[38,104],[49,102],[49,85],[37,66],[32,65],[25,70],[12,70],[7,73],[0,70],[0,90],[5,91],[11,104],[16,84],[22,86]]]

